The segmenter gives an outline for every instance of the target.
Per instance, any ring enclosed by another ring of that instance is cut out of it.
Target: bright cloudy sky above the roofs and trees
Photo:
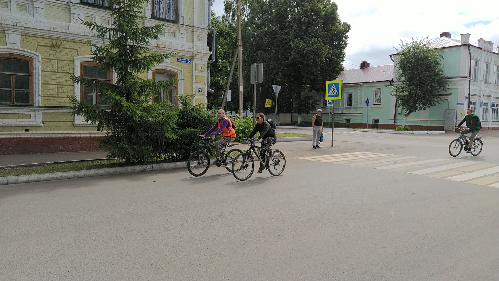
[[[213,10],[222,15],[224,0],[215,0]],[[336,0],[343,21],[352,25],[349,32],[345,68],[356,68],[360,61],[371,65],[391,63],[389,54],[395,53],[401,39],[411,37],[438,38],[449,31],[452,37],[470,33],[470,41],[477,45],[483,37],[499,43],[499,2],[497,0]]]

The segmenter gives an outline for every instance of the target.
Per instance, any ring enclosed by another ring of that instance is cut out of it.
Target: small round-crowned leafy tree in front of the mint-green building
[[[410,42],[403,40],[397,51],[395,67],[400,82],[394,86],[393,95],[405,111],[404,128],[411,113],[440,103],[439,93],[448,89],[449,82],[440,63],[443,57],[440,49],[432,48],[428,37],[412,38]]]

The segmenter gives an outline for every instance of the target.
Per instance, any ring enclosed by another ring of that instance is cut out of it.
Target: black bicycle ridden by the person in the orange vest
[[[210,157],[215,156],[216,148],[215,144],[210,142],[211,137],[201,136],[201,139],[205,142],[202,150],[192,152],[191,156],[187,160],[187,169],[194,176],[200,176],[205,174],[205,172],[210,167]],[[234,148],[229,150],[229,152],[225,152],[227,147],[232,147],[234,145],[238,145],[239,143],[226,144],[224,149],[222,150],[223,162],[218,163],[217,166],[225,166],[225,168],[232,172],[232,162],[234,160],[234,156],[239,153],[243,153],[241,149]]]

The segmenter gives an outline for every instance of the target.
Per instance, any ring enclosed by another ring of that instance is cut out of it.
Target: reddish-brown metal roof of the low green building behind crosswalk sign
[[[345,69],[338,76],[343,84],[386,81],[393,78],[393,63],[370,66],[367,68]]]

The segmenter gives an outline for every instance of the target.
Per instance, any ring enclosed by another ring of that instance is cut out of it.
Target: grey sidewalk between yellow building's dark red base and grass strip
[[[105,151],[0,155],[0,166],[72,161],[72,160],[102,159],[105,157],[106,157]]]

